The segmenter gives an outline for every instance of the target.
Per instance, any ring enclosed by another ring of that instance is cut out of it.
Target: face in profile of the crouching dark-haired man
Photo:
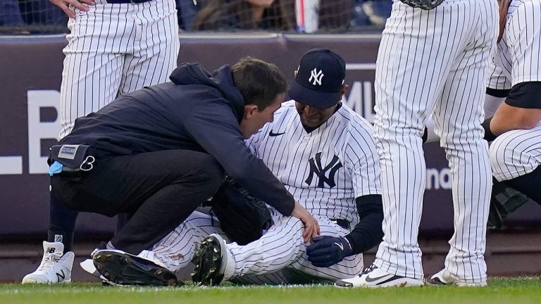
[[[274,113],[282,106],[285,94],[276,95],[273,103],[259,110],[256,105],[244,106],[244,118],[240,122],[240,133],[244,139],[249,139],[253,134],[259,131],[267,122],[273,122]]]

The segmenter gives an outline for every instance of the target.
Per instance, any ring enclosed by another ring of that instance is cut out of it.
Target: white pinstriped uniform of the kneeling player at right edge
[[[541,2],[513,0],[493,58],[488,87],[511,89],[541,81]],[[490,145],[492,175],[499,181],[526,175],[541,163],[541,123],[500,135]]]

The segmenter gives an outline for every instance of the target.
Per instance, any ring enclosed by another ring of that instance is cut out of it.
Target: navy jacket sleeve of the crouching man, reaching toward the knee
[[[185,130],[225,172],[282,215],[291,215],[294,198],[244,143],[232,108],[223,101],[201,101],[185,118]]]

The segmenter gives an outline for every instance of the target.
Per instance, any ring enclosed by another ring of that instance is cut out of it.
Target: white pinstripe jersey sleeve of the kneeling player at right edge
[[[505,39],[512,85],[541,81],[541,1],[513,1],[509,11]]]

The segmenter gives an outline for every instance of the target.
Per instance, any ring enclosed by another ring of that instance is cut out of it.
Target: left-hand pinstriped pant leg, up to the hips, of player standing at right
[[[399,1],[393,4],[375,74],[375,137],[385,214],[385,236],[375,265],[386,272],[423,277],[417,241],[425,189],[421,135],[449,71],[464,56],[466,46],[485,44],[472,37],[487,32],[486,15],[495,5],[492,0],[448,0],[423,11]],[[495,26],[492,21],[488,24]]]

